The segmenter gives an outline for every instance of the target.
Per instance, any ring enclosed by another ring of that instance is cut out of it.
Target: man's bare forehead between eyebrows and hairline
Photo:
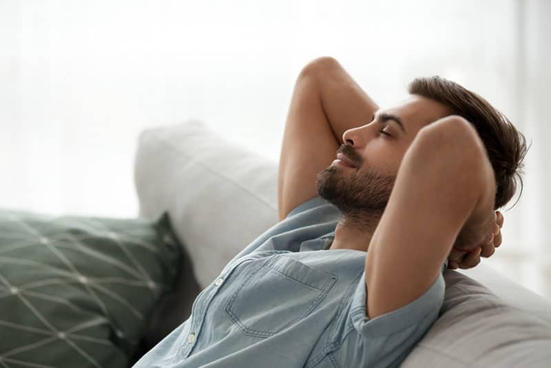
[[[410,94],[406,99],[380,112],[398,116],[408,132],[417,132],[428,123],[452,114],[450,108],[444,104],[418,94]]]

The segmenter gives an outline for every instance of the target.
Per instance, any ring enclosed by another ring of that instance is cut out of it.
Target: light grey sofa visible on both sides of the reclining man
[[[200,121],[147,130],[136,156],[141,215],[156,218],[169,212],[202,289],[278,221],[277,169],[276,163],[225,141]],[[503,298],[446,270],[441,316],[402,367],[548,367],[551,305],[484,263],[475,269],[472,276],[484,285],[488,279]],[[183,271],[179,299],[158,313],[172,313],[172,319],[155,319],[164,329],[176,327],[178,318],[185,320],[196,297],[193,287],[185,286],[193,276]],[[180,316],[174,317],[174,311]]]

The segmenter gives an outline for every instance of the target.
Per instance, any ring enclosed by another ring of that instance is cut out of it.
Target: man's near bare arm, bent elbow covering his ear
[[[419,131],[369,244],[369,318],[424,294],[460,232],[481,241],[494,224],[494,198],[492,166],[468,121],[448,116]]]

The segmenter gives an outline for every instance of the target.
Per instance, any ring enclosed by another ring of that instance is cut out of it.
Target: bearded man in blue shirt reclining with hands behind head
[[[302,70],[280,222],[136,367],[393,367],[436,320],[442,271],[501,244],[526,143],[476,94],[416,79],[381,110],[331,58]]]

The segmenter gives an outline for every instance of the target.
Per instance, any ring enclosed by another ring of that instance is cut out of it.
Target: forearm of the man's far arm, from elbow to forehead
[[[340,63],[330,57],[315,59],[301,76],[312,79],[323,112],[339,144],[346,130],[371,122],[377,104],[360,88]]]

